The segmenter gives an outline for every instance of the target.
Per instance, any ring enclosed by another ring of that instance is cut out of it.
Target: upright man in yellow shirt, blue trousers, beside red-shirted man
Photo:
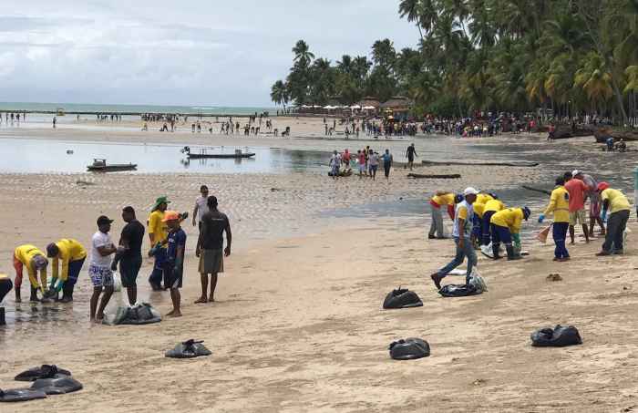
[[[556,179],[556,188],[551,191],[550,204],[545,212],[540,214],[539,223],[545,220],[545,215],[553,212],[554,223],[551,228],[551,234],[554,238],[554,261],[564,262],[570,260],[570,253],[567,251],[565,241],[567,239],[567,230],[570,228],[570,192],[565,189],[565,178]]]

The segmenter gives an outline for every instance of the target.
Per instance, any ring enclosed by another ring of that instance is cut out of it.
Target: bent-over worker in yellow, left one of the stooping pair
[[[30,301],[37,301],[37,290],[42,291],[43,297],[46,288],[46,267],[48,260],[46,254],[38,250],[33,245],[20,245],[14,251],[14,268],[15,268],[15,303],[20,303],[20,287],[22,286],[22,272],[26,267],[26,273],[29,276],[31,284]],[[36,274],[40,273],[40,283],[37,282]]]

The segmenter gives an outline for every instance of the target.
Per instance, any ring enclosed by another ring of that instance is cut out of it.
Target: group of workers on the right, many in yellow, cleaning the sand
[[[582,225],[586,243],[590,242],[595,223],[605,236],[598,256],[623,253],[623,234],[629,220],[630,203],[622,191],[612,189],[607,182],[596,182],[591,175],[580,170],[566,172],[555,181],[550,203],[540,213],[539,222],[546,215],[553,214],[551,224],[555,244],[554,261],[570,260],[567,250],[567,233],[574,244],[575,226]],[[590,201],[590,222],[587,225],[585,201]],[[467,188],[462,194],[437,191],[430,200],[431,225],[429,239],[445,239],[443,212],[446,209],[454,222],[452,237],[456,243],[454,259],[430,277],[437,289],[441,281],[461,263],[468,260],[466,282],[469,283],[478,259],[475,250],[494,260],[499,260],[500,244],[505,245],[508,260],[519,260],[521,256],[520,228],[523,221],[530,219],[530,208],[507,208],[494,193],[479,192]],[[605,222],[607,228],[605,228]],[[549,231],[549,228],[547,229]]]

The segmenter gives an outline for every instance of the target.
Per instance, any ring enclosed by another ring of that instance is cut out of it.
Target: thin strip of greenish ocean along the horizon
[[[264,111],[276,113],[277,108],[230,107],[215,105],[196,106],[160,106],[160,105],[101,105],[92,103],[32,103],[0,102],[0,111],[55,111],[63,108],[67,112],[105,112],[105,113],[190,113],[202,115],[254,115]]]

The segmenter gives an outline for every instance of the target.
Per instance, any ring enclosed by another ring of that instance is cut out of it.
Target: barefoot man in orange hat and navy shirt
[[[170,300],[173,310],[168,316],[180,317],[181,295],[180,288],[184,274],[184,251],[186,250],[186,232],[181,229],[181,216],[179,212],[168,211],[162,220],[169,227],[167,237],[166,266],[164,273],[164,285],[170,288]]]

